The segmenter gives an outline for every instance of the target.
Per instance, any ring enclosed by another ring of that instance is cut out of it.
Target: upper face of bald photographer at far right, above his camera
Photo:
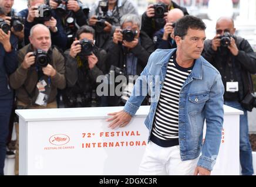
[[[223,36],[225,32],[235,34],[233,22],[229,19],[222,19],[216,23],[216,34]]]

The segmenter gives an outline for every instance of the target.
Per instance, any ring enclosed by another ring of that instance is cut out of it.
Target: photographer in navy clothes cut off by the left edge
[[[0,18],[2,19],[4,16],[4,12],[0,8]],[[17,45],[18,40],[10,30],[5,33],[0,29],[0,175],[4,175],[9,120],[14,103],[14,92],[9,86],[9,75],[18,66]]]

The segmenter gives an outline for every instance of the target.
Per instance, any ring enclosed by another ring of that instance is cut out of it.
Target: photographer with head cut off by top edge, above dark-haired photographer
[[[89,9],[83,8],[82,2],[76,0],[49,0],[49,5],[62,19],[62,26],[68,36],[66,49],[69,49],[76,31],[80,26],[87,25]]]

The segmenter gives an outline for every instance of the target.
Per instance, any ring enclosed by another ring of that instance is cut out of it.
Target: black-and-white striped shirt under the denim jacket
[[[178,145],[178,102],[181,87],[193,67],[183,68],[176,56],[167,64],[166,78],[157,103],[150,140],[161,147]]]

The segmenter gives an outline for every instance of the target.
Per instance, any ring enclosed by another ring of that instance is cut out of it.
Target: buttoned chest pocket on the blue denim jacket
[[[188,113],[196,114],[202,112],[204,104],[209,99],[208,92],[191,93],[188,95]]]

